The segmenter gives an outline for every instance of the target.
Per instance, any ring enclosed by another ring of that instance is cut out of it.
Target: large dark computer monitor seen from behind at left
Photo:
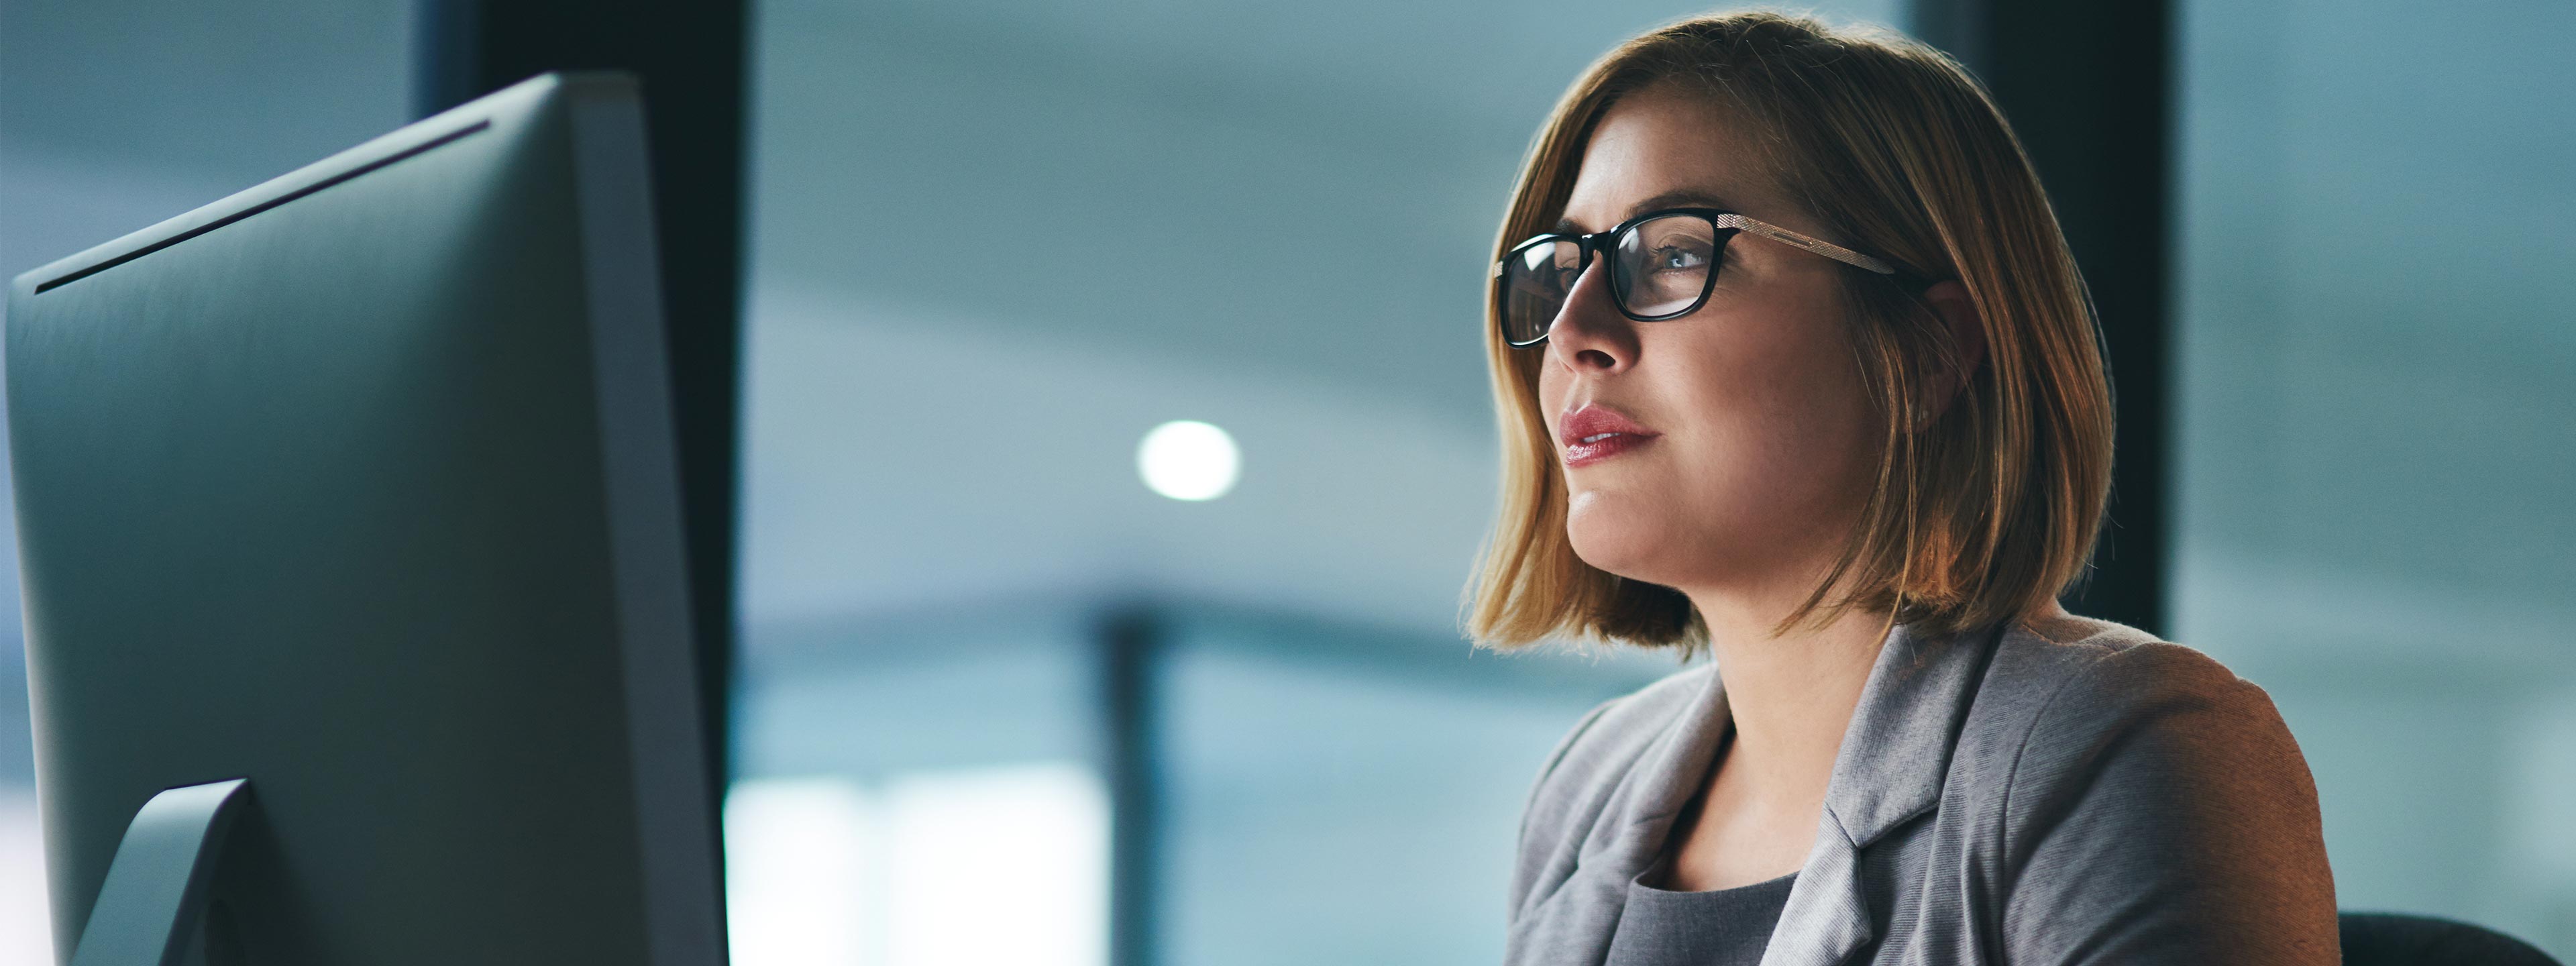
[[[18,276],[64,961],[724,961],[654,260],[549,75]]]

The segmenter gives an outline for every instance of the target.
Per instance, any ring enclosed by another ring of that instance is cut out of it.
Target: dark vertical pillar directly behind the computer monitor
[[[644,85],[706,739],[726,775],[742,363],[742,0],[420,0],[422,116],[549,70]],[[721,786],[721,781],[719,781]],[[716,788],[721,799],[721,788]]]

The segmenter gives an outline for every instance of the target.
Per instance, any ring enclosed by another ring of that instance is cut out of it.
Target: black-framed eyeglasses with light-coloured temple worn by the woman
[[[1610,252],[1610,294],[1618,312],[1636,322],[1677,319],[1708,304],[1718,283],[1718,252],[1736,232],[1808,250],[1844,265],[1893,276],[1896,265],[1850,247],[1806,237],[1777,224],[1754,222],[1718,209],[1646,211],[1625,224],[1592,234],[1538,234],[1512,245],[1494,263],[1494,307],[1502,340],[1530,348],[1548,340],[1548,327],[1566,307],[1574,281],[1592,268],[1592,252]]]

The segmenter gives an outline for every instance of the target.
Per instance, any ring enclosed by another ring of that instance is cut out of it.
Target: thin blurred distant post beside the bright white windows
[[[1097,626],[1103,778],[1110,786],[1110,966],[1154,963],[1159,878],[1157,672],[1162,623],[1146,608]]]

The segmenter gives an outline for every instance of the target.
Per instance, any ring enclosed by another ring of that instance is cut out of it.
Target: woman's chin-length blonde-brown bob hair
[[[1777,13],[1672,23],[1613,49],[1556,103],[1512,188],[1497,260],[1551,229],[1592,126],[1651,85],[1731,108],[1762,167],[1829,240],[1899,265],[1842,273],[1852,361],[1886,438],[1839,559],[1772,634],[1852,608],[1937,636],[2043,613],[2094,546],[2112,399],[2084,278],[1994,100],[1950,57],[1886,31]],[[1984,361],[1965,381],[1945,379],[1963,345],[1922,299],[1945,278],[1984,325]],[[1574,556],[1564,471],[1538,412],[1543,353],[1507,345],[1499,309],[1489,291],[1502,510],[1468,634],[1489,647],[1564,636],[1695,652],[1708,626],[1680,590]],[[1932,399],[1942,384],[1958,386],[1947,407]]]

